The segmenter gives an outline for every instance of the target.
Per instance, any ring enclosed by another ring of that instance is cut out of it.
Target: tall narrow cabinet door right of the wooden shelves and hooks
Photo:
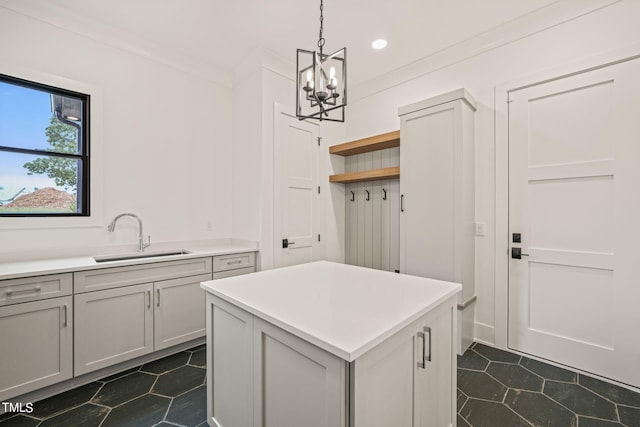
[[[402,169],[412,171],[410,178],[400,181],[403,195],[400,259],[405,274],[440,280],[457,277],[452,233],[455,215],[459,214],[455,209],[452,131],[456,114],[452,103],[419,110],[407,116],[401,130],[402,137],[412,141],[400,150]]]

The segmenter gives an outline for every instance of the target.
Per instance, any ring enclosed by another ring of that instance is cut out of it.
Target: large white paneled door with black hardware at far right
[[[634,386],[639,75],[632,60],[509,94],[509,347]]]

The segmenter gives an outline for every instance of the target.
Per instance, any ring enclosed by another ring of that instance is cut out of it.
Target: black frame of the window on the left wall
[[[50,95],[60,95],[64,97],[74,97],[82,100],[82,126],[79,130],[80,133],[80,154],[72,153],[60,153],[55,151],[28,149],[19,147],[10,147],[2,145],[0,141],[0,152],[31,154],[35,156],[46,157],[59,157],[77,160],[79,163],[78,175],[79,179],[76,184],[76,212],[40,212],[40,213],[25,213],[25,212],[1,212],[0,217],[89,217],[91,216],[91,203],[90,203],[90,171],[91,171],[91,156],[90,156],[90,101],[91,95],[86,93],[80,93],[69,89],[62,89],[59,87],[51,86],[44,83],[38,83],[30,80],[21,79],[18,77],[9,76],[0,73],[0,81],[3,83],[9,83],[16,86],[25,87],[40,92],[46,92]],[[80,207],[80,209],[78,209]]]

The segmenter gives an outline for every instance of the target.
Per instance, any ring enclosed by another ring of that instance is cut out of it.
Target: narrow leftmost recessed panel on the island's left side
[[[207,414],[211,425],[253,425],[253,316],[207,294]]]

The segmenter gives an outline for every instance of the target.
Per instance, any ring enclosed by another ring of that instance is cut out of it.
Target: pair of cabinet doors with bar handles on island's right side
[[[455,297],[355,362],[354,427],[448,427],[456,416]]]

